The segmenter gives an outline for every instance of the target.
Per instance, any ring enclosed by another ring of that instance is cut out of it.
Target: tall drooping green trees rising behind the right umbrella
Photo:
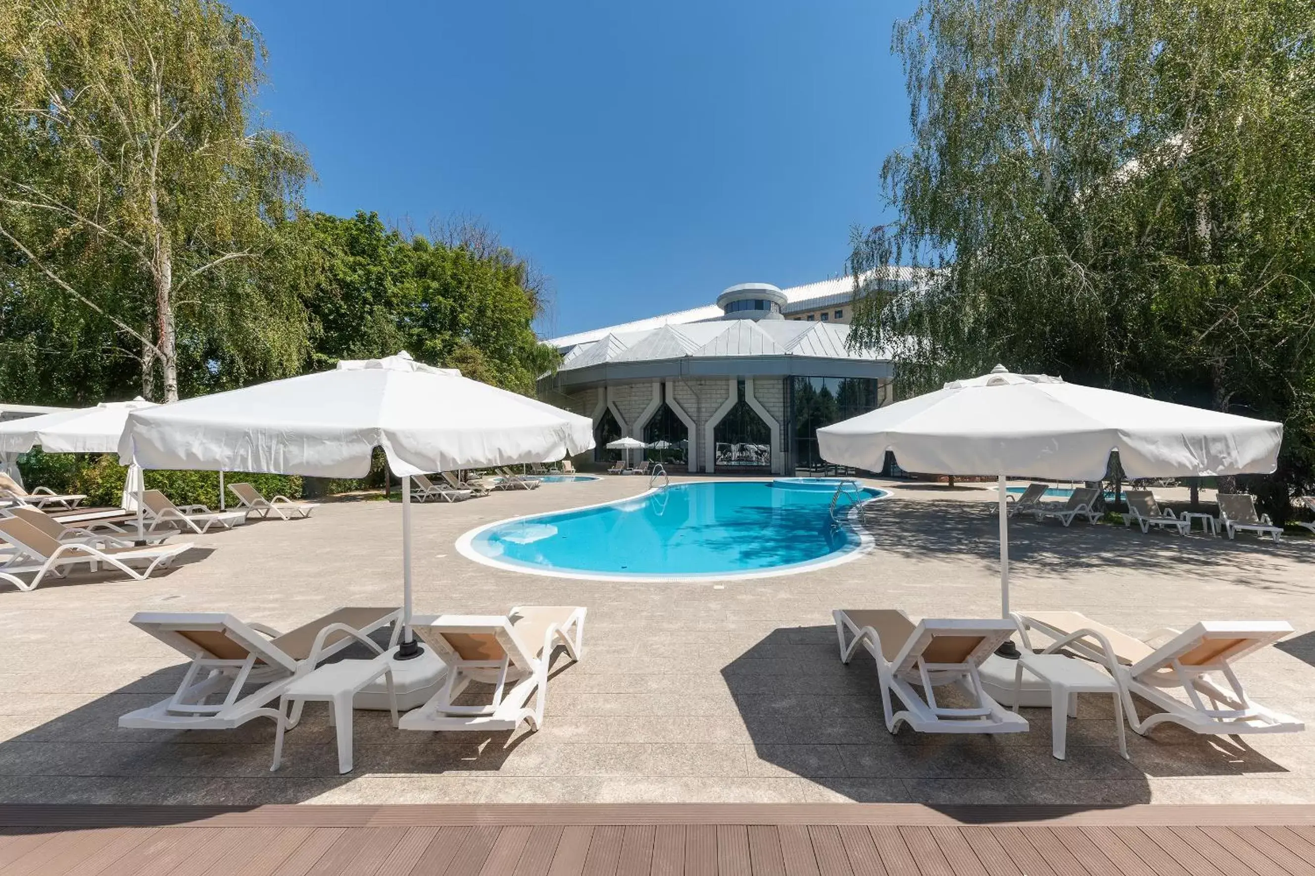
[[[1287,0],[924,0],[853,343],[902,393],[1003,362],[1282,419],[1278,483],[1308,486],[1311,26]]]

